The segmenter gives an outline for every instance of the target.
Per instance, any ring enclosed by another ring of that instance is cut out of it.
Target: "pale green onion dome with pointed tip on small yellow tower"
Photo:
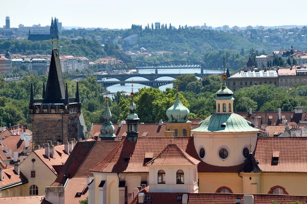
[[[181,104],[177,94],[175,103],[169,109],[167,109],[166,115],[168,117],[167,122],[187,122],[190,111]]]

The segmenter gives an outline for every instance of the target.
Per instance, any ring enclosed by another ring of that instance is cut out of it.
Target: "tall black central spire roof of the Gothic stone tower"
[[[61,62],[58,54],[58,49],[52,49],[48,81],[46,85],[45,104],[60,104],[61,98],[64,98],[64,81],[61,70]]]

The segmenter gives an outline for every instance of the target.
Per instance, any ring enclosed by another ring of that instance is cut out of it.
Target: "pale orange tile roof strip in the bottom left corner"
[[[0,203],[5,204],[42,204],[50,203],[46,201],[45,195],[35,195],[35,196],[18,196],[18,197],[0,197]]]

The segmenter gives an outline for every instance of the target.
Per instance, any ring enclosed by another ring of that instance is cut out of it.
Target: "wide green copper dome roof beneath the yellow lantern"
[[[215,113],[205,120],[200,122],[200,126],[192,132],[258,132],[251,126],[251,122],[247,121],[244,117],[235,114],[219,114]]]

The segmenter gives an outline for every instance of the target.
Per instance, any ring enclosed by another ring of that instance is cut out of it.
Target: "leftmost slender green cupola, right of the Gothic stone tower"
[[[116,138],[115,133],[115,128],[111,122],[112,114],[108,106],[108,97],[105,97],[106,100],[106,106],[105,106],[105,111],[103,113],[103,119],[104,122],[100,127],[100,135],[99,137],[101,140],[114,140]]]

